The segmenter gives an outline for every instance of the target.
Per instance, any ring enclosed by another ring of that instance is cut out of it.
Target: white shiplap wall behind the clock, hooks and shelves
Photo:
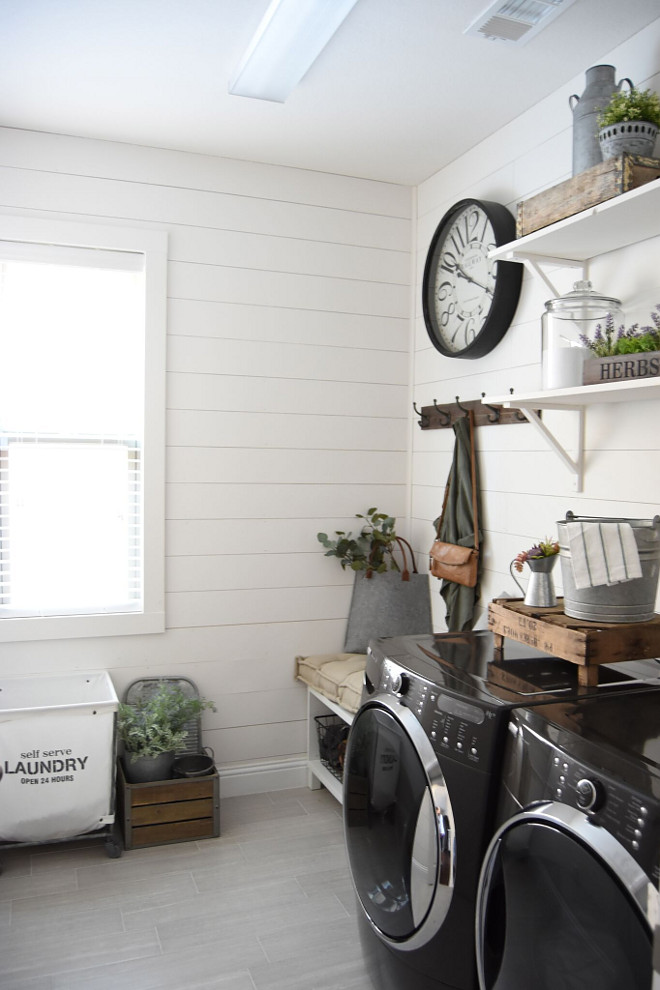
[[[660,91],[657,52],[660,20],[600,60],[616,66],[617,78],[629,76],[641,88]],[[587,67],[585,66],[585,69]],[[444,358],[430,345],[421,313],[421,281],[428,244],[444,212],[466,196],[505,203],[515,215],[517,203],[571,176],[572,114],[570,94],[584,89],[584,76],[514,120],[418,190],[414,398],[418,406],[476,399],[483,392],[507,394],[510,387],[530,391],[541,384],[541,314],[550,293],[525,274],[514,322],[491,354],[477,361]],[[658,237],[591,263],[594,288],[623,302],[626,322],[648,322],[660,303],[660,217]],[[560,292],[577,276],[553,272]],[[502,593],[519,594],[509,562],[536,540],[556,536],[556,521],[568,509],[579,514],[649,518],[660,512],[660,403],[640,402],[590,407],[586,417],[586,475],[577,494],[573,479],[529,425],[485,427],[477,431],[483,524],[484,565],[479,624],[488,601]],[[569,450],[575,450],[571,413],[544,413]],[[433,537],[451,465],[451,430],[413,434],[412,514],[415,542]],[[561,592],[559,569],[557,588]],[[433,595],[436,628],[445,627],[444,608]]]

